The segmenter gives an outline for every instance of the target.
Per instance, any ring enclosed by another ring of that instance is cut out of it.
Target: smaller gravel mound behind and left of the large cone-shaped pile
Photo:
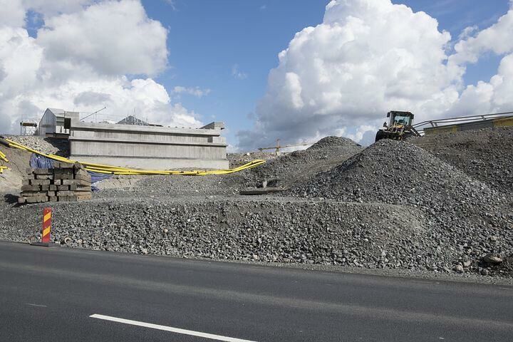
[[[361,150],[363,147],[351,139],[326,137],[306,150],[281,155],[249,172],[234,175],[228,183],[260,187],[265,180],[272,180],[275,186],[288,187],[318,172],[329,170]]]

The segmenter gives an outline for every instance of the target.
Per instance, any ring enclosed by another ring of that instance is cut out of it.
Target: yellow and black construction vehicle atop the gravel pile
[[[420,136],[413,128],[413,113],[391,110],[387,113],[388,124],[383,123],[383,127],[376,133],[375,141],[381,139],[404,140],[410,136]]]

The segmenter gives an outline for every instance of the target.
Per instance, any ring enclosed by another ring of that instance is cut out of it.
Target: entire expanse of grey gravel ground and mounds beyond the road
[[[509,171],[512,132],[368,148],[328,137],[233,175],[115,176],[96,183],[92,201],[51,204],[53,239],[140,254],[513,279],[512,183],[491,166]],[[25,152],[4,152],[28,162]],[[234,155],[234,165],[246,157]],[[286,192],[237,195],[264,181]],[[3,184],[0,175],[0,239],[36,241],[45,205],[18,206],[19,192]],[[487,254],[503,261],[489,264]]]

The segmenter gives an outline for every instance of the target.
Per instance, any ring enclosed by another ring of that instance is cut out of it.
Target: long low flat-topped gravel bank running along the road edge
[[[0,239],[34,241],[38,204],[5,210]],[[53,206],[53,238],[71,247],[177,257],[408,268],[423,218],[386,204],[294,199],[101,200]],[[7,224],[9,222],[9,224]],[[421,253],[423,244],[418,244]]]

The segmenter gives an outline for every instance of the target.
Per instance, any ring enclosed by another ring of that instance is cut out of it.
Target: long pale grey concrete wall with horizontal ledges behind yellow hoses
[[[140,169],[225,169],[226,140],[219,125],[163,128],[73,121],[71,159]]]

